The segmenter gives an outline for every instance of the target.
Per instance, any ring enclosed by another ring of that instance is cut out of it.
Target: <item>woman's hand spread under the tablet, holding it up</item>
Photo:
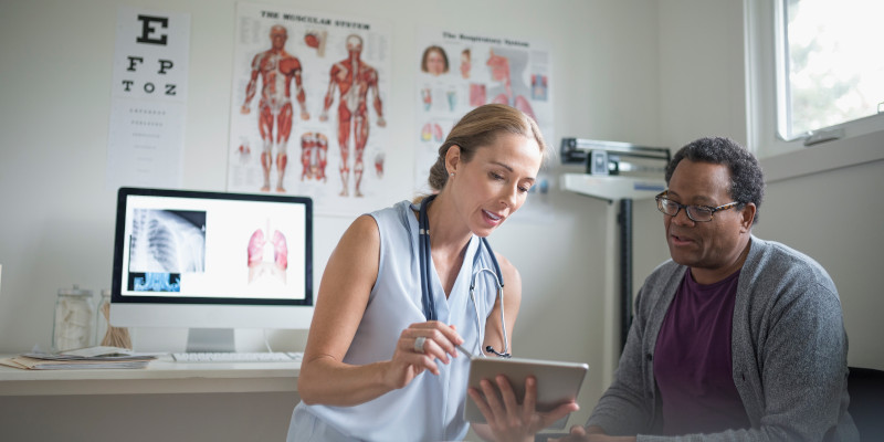
[[[549,412],[537,411],[537,380],[533,376],[525,379],[525,398],[522,404],[505,376],[498,375],[495,381],[496,387],[490,380],[483,379],[480,382],[482,392],[470,388],[467,393],[478,406],[496,441],[534,441],[535,433],[580,408],[577,402],[571,401]],[[496,391],[498,389],[499,398]]]

